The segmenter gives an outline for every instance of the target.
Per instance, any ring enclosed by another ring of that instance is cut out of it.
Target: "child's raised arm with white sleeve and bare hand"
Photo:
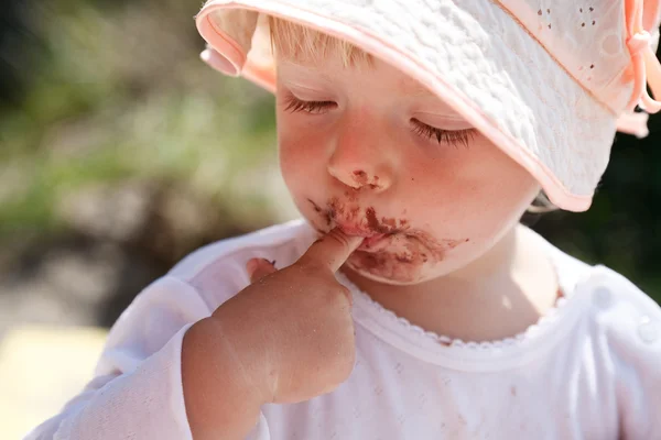
[[[290,267],[256,267],[213,314],[191,285],[155,282],[112,328],[96,378],[26,439],[242,439],[261,404],[330,392],[355,359],[334,272],[360,242],[335,232]]]

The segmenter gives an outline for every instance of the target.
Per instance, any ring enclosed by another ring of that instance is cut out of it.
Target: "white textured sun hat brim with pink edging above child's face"
[[[365,8],[349,0],[212,0],[196,25],[226,57],[221,72],[271,91],[274,66],[240,53],[246,43],[225,32],[224,13],[273,15],[346,40],[436,94],[525,168],[554,205],[587,210],[608,164],[617,118],[496,3],[442,1],[415,12],[398,0],[384,13],[377,3]]]

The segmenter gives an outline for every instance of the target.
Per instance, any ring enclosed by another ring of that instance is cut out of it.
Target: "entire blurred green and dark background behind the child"
[[[108,328],[142,287],[194,249],[296,217],[277,168],[273,98],[199,61],[198,7],[3,2],[0,342],[26,323]],[[643,141],[618,135],[588,212],[525,220],[659,300],[661,117],[650,129]],[[17,430],[79,389],[104,334],[51,333],[21,333],[0,350],[0,413],[13,409],[8,420],[29,413]],[[53,373],[57,355],[44,365],[45,346],[86,361]],[[42,370],[28,370],[40,360]],[[12,384],[19,375],[34,394]],[[43,377],[50,382],[35,382]]]

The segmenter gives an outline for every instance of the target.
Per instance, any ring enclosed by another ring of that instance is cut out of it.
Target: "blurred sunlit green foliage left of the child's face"
[[[204,66],[182,3],[30,6],[41,45],[0,118],[0,240],[65,228],[58,200],[90,184],[174,179],[220,202],[274,164],[273,98]]]

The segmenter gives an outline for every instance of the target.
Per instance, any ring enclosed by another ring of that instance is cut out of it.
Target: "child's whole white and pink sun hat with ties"
[[[589,208],[618,129],[647,135],[636,106],[661,109],[661,0],[209,0],[202,58],[274,91],[269,15],[416,79],[565,210]]]

